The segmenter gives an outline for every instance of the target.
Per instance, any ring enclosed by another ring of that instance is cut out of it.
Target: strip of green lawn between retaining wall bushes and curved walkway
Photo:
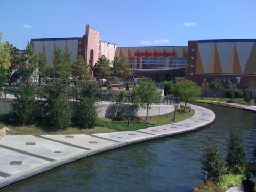
[[[188,109],[186,109],[185,113],[183,112],[183,108],[179,111],[176,111],[176,119],[177,122],[183,121],[187,118],[190,118],[195,114],[194,110],[191,110],[189,113]],[[2,127],[9,127],[11,131],[8,133],[9,135],[44,135],[50,132],[50,134],[93,134],[93,133],[109,133],[116,131],[130,131],[130,130],[138,130],[147,127],[160,126],[165,124],[174,123],[173,121],[174,112],[168,113],[165,115],[158,116],[150,116],[148,117],[148,121],[145,122],[145,117],[133,117],[131,118],[130,127],[127,126],[127,119],[125,121],[113,121],[109,118],[99,118],[97,120],[97,126],[91,129],[81,129],[76,126],[68,127],[66,130],[52,130],[51,124],[49,123],[49,119],[36,119],[36,122],[33,125],[29,126],[13,126],[11,124],[6,123],[5,116],[2,115],[0,118],[0,129]],[[166,118],[167,116],[167,118]]]

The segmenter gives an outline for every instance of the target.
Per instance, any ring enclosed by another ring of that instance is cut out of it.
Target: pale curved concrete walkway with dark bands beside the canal
[[[211,124],[213,111],[191,105],[195,115],[178,123],[141,130],[87,135],[5,136],[0,141],[0,188],[103,151],[186,133]]]

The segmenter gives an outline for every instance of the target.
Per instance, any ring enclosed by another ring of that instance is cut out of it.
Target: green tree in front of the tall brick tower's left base
[[[75,60],[72,65],[72,74],[79,76],[79,79],[89,80],[92,75],[90,74],[90,65],[84,60],[83,56],[79,55],[78,60]]]

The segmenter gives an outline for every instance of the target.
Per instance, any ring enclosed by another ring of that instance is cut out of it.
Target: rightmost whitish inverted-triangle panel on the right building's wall
[[[254,42],[236,42],[236,51],[242,71],[245,69],[253,44]]]

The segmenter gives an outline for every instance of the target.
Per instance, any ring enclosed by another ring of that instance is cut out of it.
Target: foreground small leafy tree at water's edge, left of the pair
[[[202,169],[207,171],[209,178],[215,183],[221,180],[221,175],[226,171],[225,157],[220,152],[218,140],[206,138],[202,140],[202,147],[199,148],[201,157],[200,162],[203,165]]]

